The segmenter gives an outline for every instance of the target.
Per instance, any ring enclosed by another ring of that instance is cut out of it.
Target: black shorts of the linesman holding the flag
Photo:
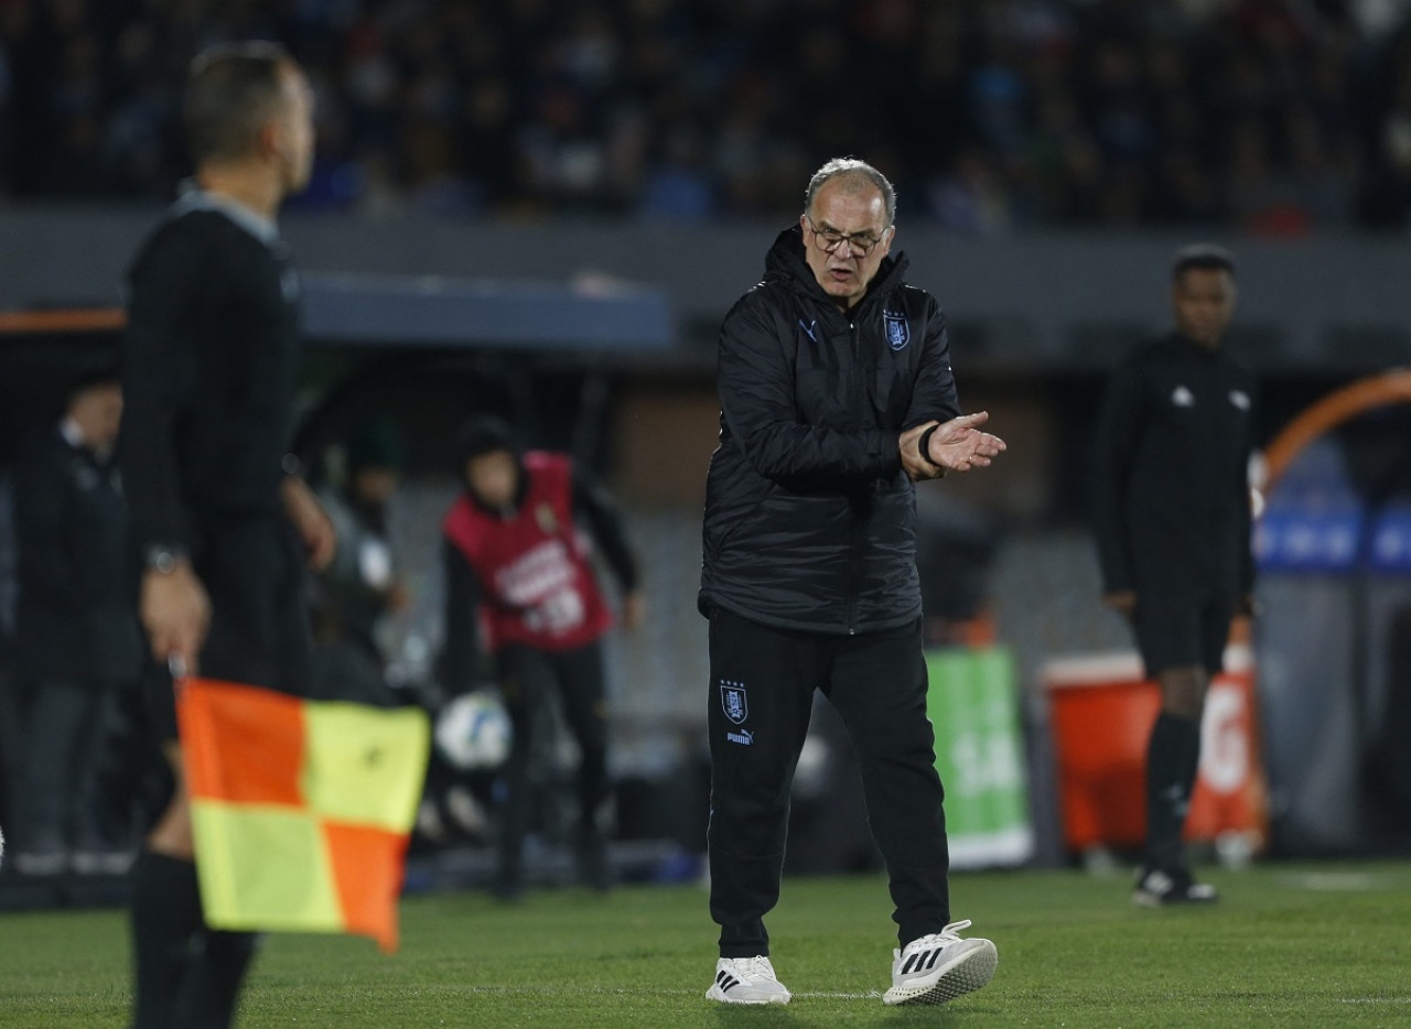
[[[306,695],[309,616],[293,526],[282,516],[209,520],[192,565],[210,596],[200,677]],[[171,674],[150,663],[144,679],[158,734],[176,739]]]

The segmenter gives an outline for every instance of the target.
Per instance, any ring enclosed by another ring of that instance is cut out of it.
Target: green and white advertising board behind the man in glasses
[[[1013,655],[1002,647],[931,650],[926,665],[951,865],[1023,864],[1034,829]]]

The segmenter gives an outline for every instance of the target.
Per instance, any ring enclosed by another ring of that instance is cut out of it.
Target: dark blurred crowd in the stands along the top
[[[317,90],[303,207],[773,217],[854,152],[964,234],[1411,224],[1404,0],[0,0],[0,196],[169,196],[251,37]]]

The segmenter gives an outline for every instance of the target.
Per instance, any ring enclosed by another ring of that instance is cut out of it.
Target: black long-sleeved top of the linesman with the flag
[[[138,546],[199,548],[212,522],[281,509],[298,362],[278,241],[174,209],[128,272],[121,462]]]

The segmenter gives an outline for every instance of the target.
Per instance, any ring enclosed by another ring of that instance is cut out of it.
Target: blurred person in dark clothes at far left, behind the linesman
[[[56,874],[96,839],[93,761],[104,709],[141,663],[128,581],[127,510],[113,445],[123,396],[107,375],[78,385],[14,476],[20,557],[17,668],[27,695],[16,867]]]

